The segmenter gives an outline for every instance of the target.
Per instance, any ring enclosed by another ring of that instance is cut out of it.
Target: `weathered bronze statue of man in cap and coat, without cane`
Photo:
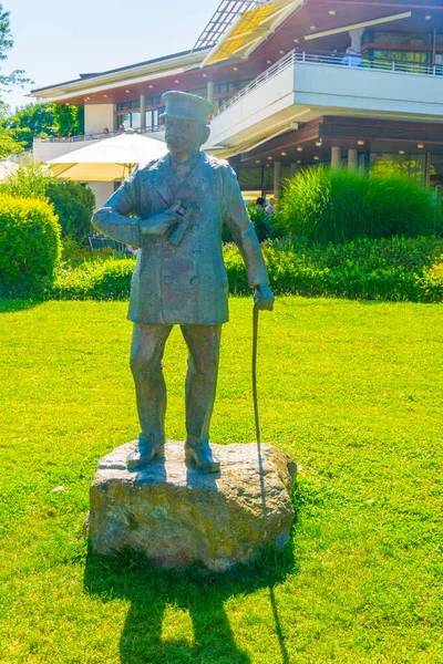
[[[189,351],[186,458],[217,473],[208,437],[222,324],[228,320],[223,224],[245,260],[258,308],[271,310],[274,295],[234,170],[200,151],[209,137],[212,104],[183,92],[167,92],[163,101],[168,154],[136,169],[93,218],[99,230],[141,249],[127,318],[134,323],[131,369],[142,430],[127,466],[143,468],[164,454],[162,357],[178,324]]]

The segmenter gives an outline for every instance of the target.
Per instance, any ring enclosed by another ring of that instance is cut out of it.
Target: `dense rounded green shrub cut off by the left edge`
[[[41,294],[60,258],[60,227],[43,200],[0,196],[0,290],[2,295]]]

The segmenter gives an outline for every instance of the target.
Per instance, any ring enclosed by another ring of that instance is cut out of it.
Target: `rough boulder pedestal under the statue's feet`
[[[91,485],[89,535],[100,553],[128,547],[162,566],[223,571],[288,541],[297,467],[284,452],[264,445],[259,460],[255,443],[212,444],[220,473],[205,474],[186,465],[183,443],[168,442],[164,459],[130,473],[134,447],[103,457]]]

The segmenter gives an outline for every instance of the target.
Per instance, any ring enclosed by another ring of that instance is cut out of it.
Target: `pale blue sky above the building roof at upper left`
[[[34,82],[4,95],[13,111],[32,89],[192,49],[220,0],[3,0],[14,45],[4,74]]]

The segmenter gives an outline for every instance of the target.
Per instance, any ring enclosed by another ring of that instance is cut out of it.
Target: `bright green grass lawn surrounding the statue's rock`
[[[0,662],[443,662],[442,305],[288,297],[261,314],[262,438],[302,466],[298,518],[285,556],[222,577],[82,538],[99,458],[138,430],[126,308],[0,302]],[[255,438],[250,309],[231,299],[217,443]],[[181,439],[185,360],[174,330]]]

